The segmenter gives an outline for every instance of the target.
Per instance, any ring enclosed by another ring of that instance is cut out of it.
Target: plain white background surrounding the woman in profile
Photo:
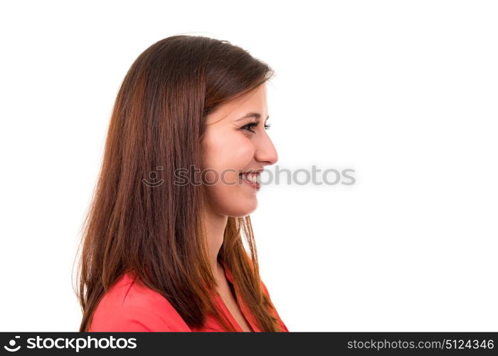
[[[495,1],[0,6],[0,330],[76,331],[75,254],[117,90],[152,43],[228,40],[277,73],[261,275],[291,331],[498,331]]]

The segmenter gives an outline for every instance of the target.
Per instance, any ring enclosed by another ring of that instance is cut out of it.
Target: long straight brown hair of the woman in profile
[[[272,78],[273,70],[228,41],[164,38],[134,61],[110,119],[100,175],[83,222],[78,299],[87,331],[102,295],[123,273],[164,295],[191,328],[213,313],[203,185],[174,184],[176,169],[201,167],[206,115]],[[151,172],[162,184],[144,184]],[[249,250],[243,246],[243,236]],[[218,261],[231,272],[263,331],[280,331],[260,285],[250,216],[228,217]]]

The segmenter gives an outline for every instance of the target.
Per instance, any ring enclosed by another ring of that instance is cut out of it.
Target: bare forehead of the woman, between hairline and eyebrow
[[[237,120],[248,112],[259,112],[262,117],[266,117],[266,83],[259,85],[258,88],[242,95],[240,98],[221,105],[206,117],[206,124],[209,125],[223,119],[229,119],[228,121]]]

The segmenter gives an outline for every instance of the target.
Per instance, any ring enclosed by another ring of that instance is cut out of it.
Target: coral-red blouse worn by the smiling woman
[[[239,298],[238,288],[233,283],[231,273],[223,263],[227,281],[235,288],[235,299],[245,320],[255,332],[261,332],[250,310],[245,305],[243,298]],[[261,281],[264,293],[270,298],[268,290]],[[243,332],[240,325],[235,321],[228,308],[226,308],[221,296],[216,293],[216,303],[223,313],[235,325],[238,332]],[[287,326],[282,322],[277,311],[273,315],[279,320],[282,330],[288,332]],[[181,318],[175,308],[156,291],[138,286],[134,283],[133,276],[125,273],[111,288],[105,293],[95,309],[95,313],[90,324],[89,332],[135,332],[135,331],[171,331],[171,332],[223,332],[221,324],[208,315],[203,328],[189,328]]]

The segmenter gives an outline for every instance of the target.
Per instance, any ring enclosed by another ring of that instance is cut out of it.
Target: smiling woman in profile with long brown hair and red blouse
[[[288,331],[248,215],[260,171],[277,162],[272,75],[202,36],[164,38],[133,63],[85,219],[80,331]]]

